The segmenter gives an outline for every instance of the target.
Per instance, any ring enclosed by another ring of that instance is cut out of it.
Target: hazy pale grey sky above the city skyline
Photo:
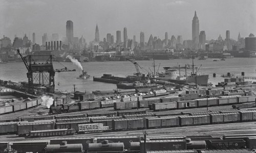
[[[36,34],[36,43],[41,44],[41,36],[52,33],[66,37],[66,21],[74,22],[74,37],[94,39],[98,23],[100,40],[111,33],[127,28],[127,35],[136,35],[139,41],[141,31],[145,41],[150,34],[164,38],[168,32],[182,35],[183,40],[191,39],[191,24],[195,10],[200,23],[200,31],[205,31],[206,39],[225,38],[226,30],[237,40],[238,33],[247,37],[256,35],[256,1],[254,0],[0,0],[0,36],[12,39],[23,33]]]

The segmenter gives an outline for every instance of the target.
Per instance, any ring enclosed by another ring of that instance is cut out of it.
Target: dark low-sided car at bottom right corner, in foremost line
[[[246,148],[244,140],[210,140],[210,149],[241,149]]]

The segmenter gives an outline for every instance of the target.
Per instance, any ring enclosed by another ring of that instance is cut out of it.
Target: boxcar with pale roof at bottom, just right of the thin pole
[[[146,150],[186,149],[186,140],[146,140]],[[140,141],[140,152],[144,152],[144,140]]]

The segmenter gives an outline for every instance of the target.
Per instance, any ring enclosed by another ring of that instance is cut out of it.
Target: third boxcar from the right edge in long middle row
[[[209,115],[179,116],[180,126],[202,125],[210,123]]]

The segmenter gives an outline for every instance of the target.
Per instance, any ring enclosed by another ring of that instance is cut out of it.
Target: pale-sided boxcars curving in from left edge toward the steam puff
[[[23,103],[0,107],[0,115],[30,109],[41,105],[41,98],[24,101]]]

